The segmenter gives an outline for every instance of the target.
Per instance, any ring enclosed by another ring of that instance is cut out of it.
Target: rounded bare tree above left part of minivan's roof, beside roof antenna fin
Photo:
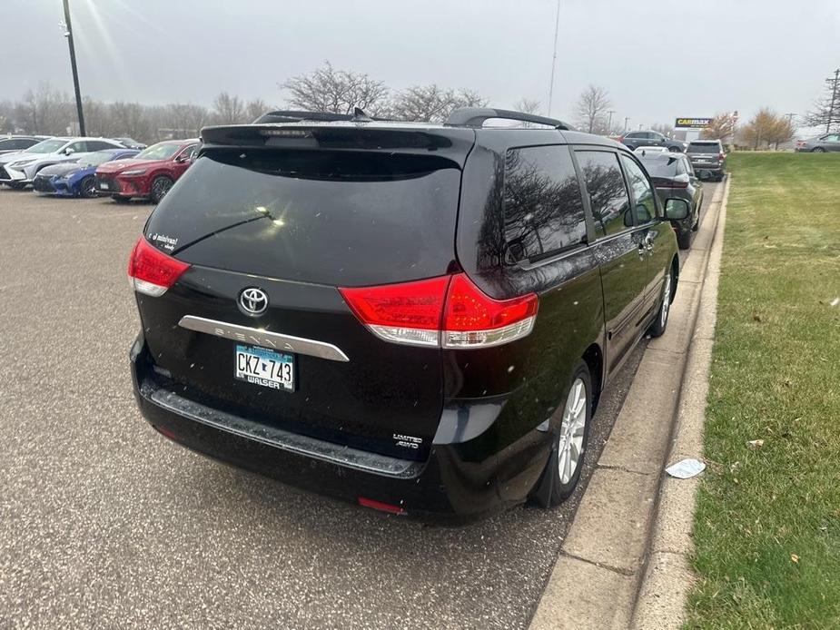
[[[311,72],[292,77],[281,88],[292,94],[289,105],[310,112],[352,113],[361,107],[378,113],[385,104],[388,88],[368,74],[336,70],[327,61]]]

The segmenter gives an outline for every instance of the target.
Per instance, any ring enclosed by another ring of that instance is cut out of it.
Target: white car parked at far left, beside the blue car
[[[122,148],[120,143],[105,138],[50,138],[23,153],[0,155],[0,183],[15,189],[25,188],[41,169],[59,162],[73,162],[75,154]]]

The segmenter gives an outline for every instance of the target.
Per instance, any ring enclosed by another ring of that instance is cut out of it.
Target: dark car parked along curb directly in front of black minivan
[[[686,216],[671,217],[671,227],[677,232],[679,249],[687,250],[691,246],[691,233],[700,226],[703,183],[695,175],[684,153],[646,153],[639,156],[639,159],[650,174],[663,204],[675,198],[687,202]]]

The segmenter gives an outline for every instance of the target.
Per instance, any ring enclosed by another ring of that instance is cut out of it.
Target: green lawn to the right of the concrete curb
[[[840,155],[729,167],[686,626],[840,628]]]

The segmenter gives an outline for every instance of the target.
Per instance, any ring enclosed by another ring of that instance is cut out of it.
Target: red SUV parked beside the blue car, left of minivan
[[[131,159],[105,162],[96,169],[96,188],[115,202],[142,197],[159,203],[189,168],[200,147],[198,139],[166,140]]]

